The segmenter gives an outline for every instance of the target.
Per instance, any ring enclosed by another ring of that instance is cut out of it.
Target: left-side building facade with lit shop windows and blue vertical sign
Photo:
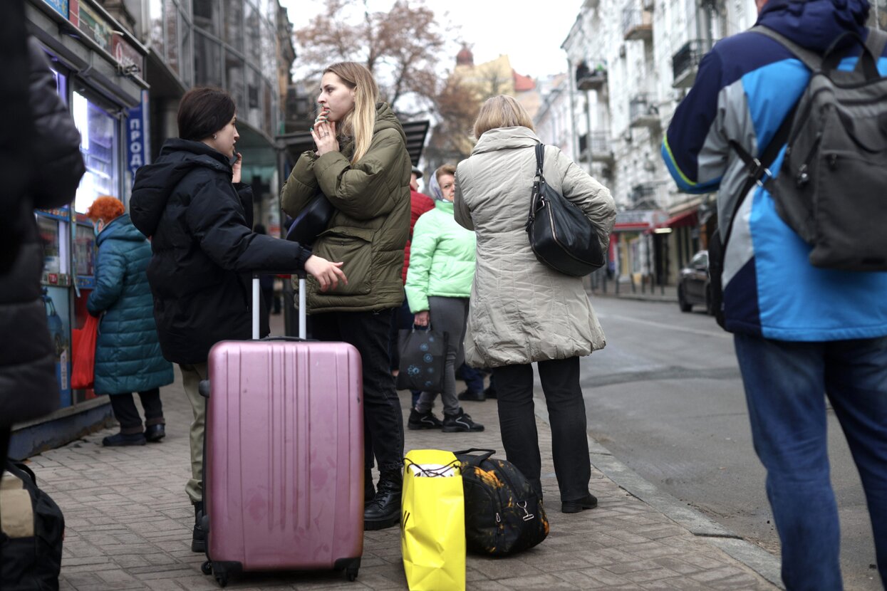
[[[178,135],[178,102],[187,89],[207,85],[231,93],[255,220],[279,234],[275,136],[295,58],[292,25],[278,0],[26,0],[26,7],[81,132],[87,172],[74,203],[35,212],[46,241],[43,299],[61,409],[16,425],[12,457],[66,443],[110,416],[106,397],[72,390],[69,380],[72,330],[85,322],[95,285],[95,240],[85,213],[100,195],[129,206],[138,167]]]

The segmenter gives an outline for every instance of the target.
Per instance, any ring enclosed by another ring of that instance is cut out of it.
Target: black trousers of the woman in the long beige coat
[[[579,358],[538,362],[552,428],[554,473],[561,502],[588,494],[592,464],[588,456],[585,400],[579,386]],[[542,461],[533,412],[533,367],[506,365],[493,369],[498,395],[499,426],[508,462],[541,491]]]

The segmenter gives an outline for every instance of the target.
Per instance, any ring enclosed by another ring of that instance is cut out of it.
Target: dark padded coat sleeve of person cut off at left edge
[[[74,200],[86,172],[80,153],[80,132],[56,92],[55,79],[40,43],[27,39],[30,61],[28,94],[34,118],[31,147],[36,167],[29,191],[35,207],[59,207]]]

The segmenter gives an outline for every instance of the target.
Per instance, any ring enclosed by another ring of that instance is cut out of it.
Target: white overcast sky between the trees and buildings
[[[324,3],[280,0],[280,4],[287,8],[294,27],[301,28]],[[369,0],[373,11],[388,11],[391,4],[393,0]],[[440,18],[449,14],[461,37],[473,45],[475,64],[504,53],[518,74],[538,79],[566,71],[567,54],[561,50],[561,43],[576,20],[582,0],[426,0],[425,4]],[[453,53],[443,58],[442,64],[449,69],[455,59]]]

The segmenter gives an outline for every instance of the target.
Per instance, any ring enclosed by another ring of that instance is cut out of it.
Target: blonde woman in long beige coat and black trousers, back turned
[[[597,506],[588,490],[585,400],[579,358],[605,345],[581,277],[540,263],[526,223],[539,139],[513,97],[487,99],[475,122],[477,144],[456,172],[456,222],[474,229],[477,271],[465,335],[466,362],[493,371],[502,445],[541,498],[541,460],[533,412],[533,369],[546,396],[561,510]],[[556,147],[545,150],[546,182],[582,209],[607,250],[616,207],[606,187]]]

